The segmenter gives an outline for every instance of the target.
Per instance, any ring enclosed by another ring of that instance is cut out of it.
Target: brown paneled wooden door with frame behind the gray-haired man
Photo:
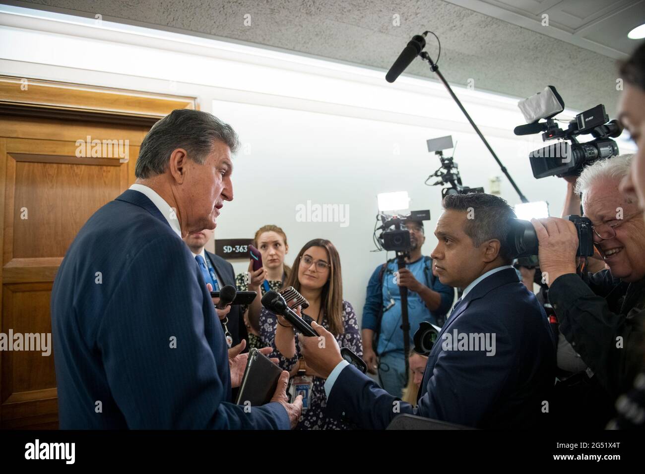
[[[138,93],[132,99],[124,92],[96,90],[88,97],[86,87],[47,83],[51,90],[37,90],[34,81],[32,97],[39,103],[21,114],[21,104],[8,101],[6,93],[21,79],[4,81],[0,78],[0,333],[6,344],[0,351],[0,427],[56,428],[50,319],[55,273],[92,213],[134,183],[139,145],[150,125],[177,103],[194,108],[194,101],[147,97],[148,108],[157,101],[156,114],[150,114],[142,106],[146,97]],[[122,106],[124,101],[135,105],[114,120],[115,99],[108,100],[112,110],[106,111],[100,104],[107,100],[104,94],[117,95]],[[63,119],[54,118],[51,104],[43,105],[52,96],[66,108],[59,114]],[[27,107],[25,97],[19,99]],[[70,103],[83,108],[70,113]],[[141,110],[150,115],[147,120]],[[137,115],[129,121],[128,112]]]

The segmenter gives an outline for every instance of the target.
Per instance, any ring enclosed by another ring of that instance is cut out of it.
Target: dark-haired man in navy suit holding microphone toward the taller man
[[[301,337],[307,365],[327,378],[327,414],[382,429],[410,413],[475,428],[532,428],[548,419],[555,341],[544,310],[510,266],[503,199],[448,195],[431,256],[443,284],[464,288],[437,337],[418,406],[400,401],[342,360],[333,336]]]

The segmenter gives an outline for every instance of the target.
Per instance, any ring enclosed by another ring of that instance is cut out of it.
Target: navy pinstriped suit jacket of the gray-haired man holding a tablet
[[[230,403],[221,324],[188,246],[143,193],[90,217],[52,289],[61,428],[289,428]]]

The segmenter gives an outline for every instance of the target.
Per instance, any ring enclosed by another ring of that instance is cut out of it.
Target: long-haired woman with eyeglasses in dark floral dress
[[[333,333],[339,346],[348,347],[362,357],[361,332],[352,305],[342,299],[341,259],[332,242],[313,239],[304,244],[284,282],[284,288],[288,286],[293,286],[309,302],[308,308],[302,311],[303,318],[312,318]],[[263,341],[274,349],[270,357],[277,357],[279,366],[291,374],[292,398],[303,395],[303,415],[295,429],[352,428],[324,416],[327,402],[324,379],[309,369],[301,357],[299,331],[266,308],[260,312],[260,330]]]

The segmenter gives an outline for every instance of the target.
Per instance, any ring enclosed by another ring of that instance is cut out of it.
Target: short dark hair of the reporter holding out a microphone
[[[497,239],[500,242],[499,255],[504,263],[513,261],[514,249],[506,241],[510,231],[509,221],[517,217],[505,199],[485,193],[448,194],[441,205],[445,210],[471,212],[472,219],[466,219],[464,232],[479,247],[483,242]]]

